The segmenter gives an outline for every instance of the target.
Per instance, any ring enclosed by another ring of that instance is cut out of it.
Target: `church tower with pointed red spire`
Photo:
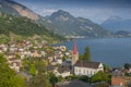
[[[76,49],[76,39],[74,39],[74,48],[72,52],[72,66],[76,63],[78,60],[79,60],[79,52]]]

